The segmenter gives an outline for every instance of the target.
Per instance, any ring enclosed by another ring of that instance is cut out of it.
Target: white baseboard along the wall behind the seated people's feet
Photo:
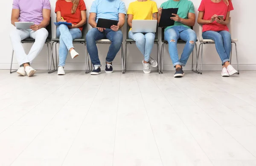
[[[33,68],[37,70],[47,70],[47,62],[35,62],[33,63]],[[12,65],[13,69],[17,69],[19,66],[17,63],[14,63]],[[233,64],[234,68],[236,67],[236,64]],[[53,67],[52,67],[53,68]],[[105,68],[105,67],[103,67]],[[114,70],[121,70],[122,65],[118,63],[113,63]],[[10,69],[9,63],[0,63],[0,69]],[[184,68],[184,70],[191,70],[191,64],[187,64]],[[240,64],[239,65],[240,70],[256,70],[256,64]],[[65,70],[85,70],[84,62],[67,62],[65,65]],[[142,63],[127,63],[126,70],[143,70]],[[157,70],[157,68],[152,68],[151,70]],[[163,70],[174,70],[173,66],[170,65],[163,65]],[[203,70],[221,70],[220,64],[205,64],[203,65]]]

